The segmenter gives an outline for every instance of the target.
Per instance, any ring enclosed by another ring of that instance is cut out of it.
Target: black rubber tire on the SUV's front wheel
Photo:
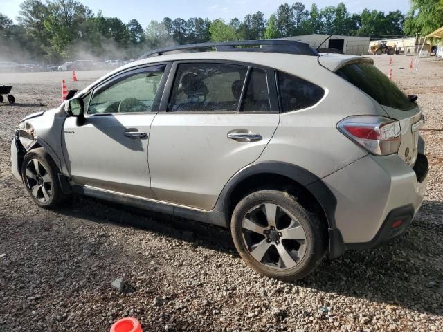
[[[37,160],[39,163],[37,166],[38,171],[35,169],[34,160]],[[66,199],[66,195],[63,194],[62,187],[60,187],[60,182],[58,181],[58,173],[60,172],[57,165],[55,165],[51,156],[42,147],[28,151],[21,166],[21,178],[34,203],[43,208],[54,208]],[[36,175],[36,179],[30,178],[30,176],[34,175]],[[50,184],[44,180],[48,179],[48,177],[51,181]],[[41,184],[40,181],[42,182]],[[33,189],[36,186],[40,188],[37,188],[35,194],[33,194]]]

